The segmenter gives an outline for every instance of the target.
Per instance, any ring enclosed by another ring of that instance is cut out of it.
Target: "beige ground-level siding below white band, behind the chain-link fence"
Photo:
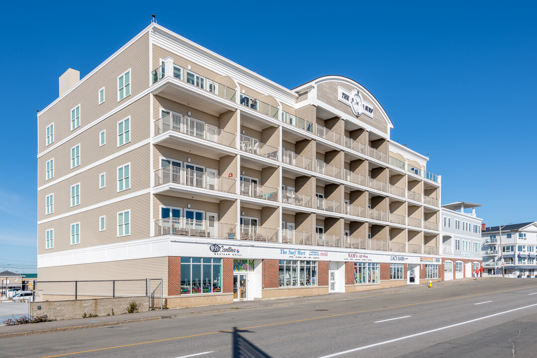
[[[94,262],[92,264],[41,267],[39,281],[164,279],[168,292],[168,256]],[[159,290],[160,291],[160,290]]]

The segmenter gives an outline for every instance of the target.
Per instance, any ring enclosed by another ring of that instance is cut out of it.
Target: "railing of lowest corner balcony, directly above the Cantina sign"
[[[169,217],[155,220],[155,235],[182,235],[217,239],[234,239],[236,224],[217,223],[207,220],[189,220]]]

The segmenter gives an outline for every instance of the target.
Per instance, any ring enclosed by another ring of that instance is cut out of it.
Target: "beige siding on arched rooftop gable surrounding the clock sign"
[[[339,109],[342,112],[345,112],[347,115],[351,116],[352,118],[355,118],[354,113],[352,113],[351,107],[344,104],[342,101],[338,100],[338,86],[342,87],[343,89],[349,92],[354,90],[353,86],[346,84],[346,83],[323,82],[317,85],[317,99]],[[367,103],[373,105],[374,103],[373,99],[369,97],[369,95],[366,92],[360,91],[360,93],[362,94],[362,98],[364,98],[364,100]],[[381,110],[379,107],[376,107],[374,105],[373,107],[374,107],[373,118],[365,114],[362,114],[358,118],[358,120],[364,123],[367,123],[373,128],[381,130],[383,133],[388,133],[388,121],[380,113]]]

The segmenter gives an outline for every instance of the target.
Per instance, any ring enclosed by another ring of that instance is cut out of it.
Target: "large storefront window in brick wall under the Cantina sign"
[[[222,292],[222,259],[181,258],[181,294]]]

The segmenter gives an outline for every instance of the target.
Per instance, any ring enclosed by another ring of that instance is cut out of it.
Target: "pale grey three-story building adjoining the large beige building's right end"
[[[440,209],[444,280],[472,277],[476,268],[481,268],[483,220],[475,214],[475,208],[480,206],[481,204],[456,201],[442,205]]]

